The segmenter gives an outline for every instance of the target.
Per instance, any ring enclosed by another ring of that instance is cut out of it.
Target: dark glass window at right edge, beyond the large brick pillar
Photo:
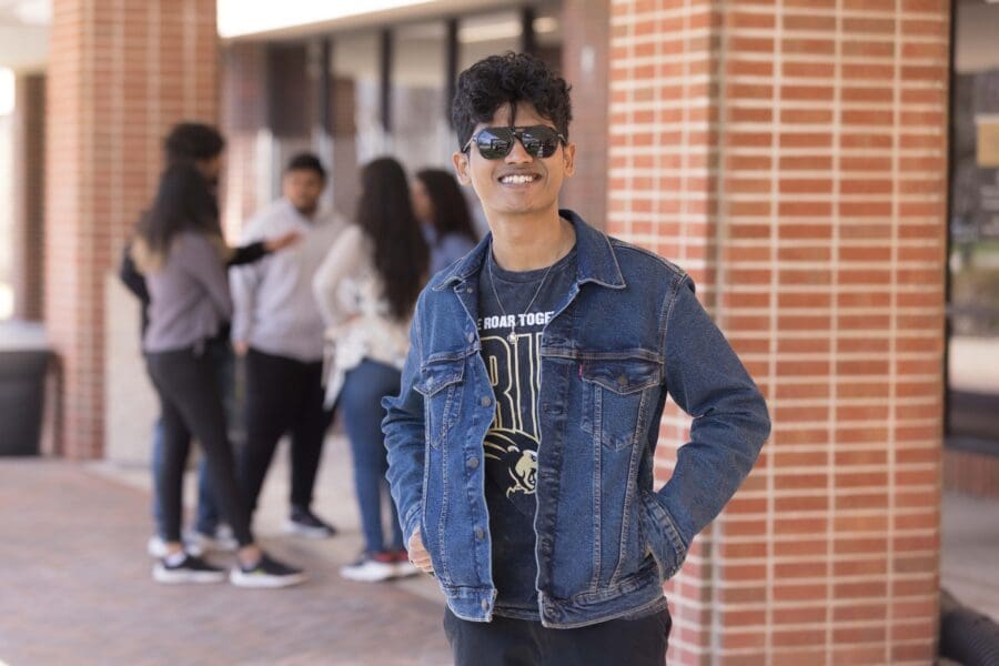
[[[956,6],[948,444],[999,455],[999,6]]]

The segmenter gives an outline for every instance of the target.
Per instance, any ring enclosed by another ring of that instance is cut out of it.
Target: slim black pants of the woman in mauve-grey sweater
[[[145,362],[163,418],[163,461],[157,478],[163,538],[181,539],[181,488],[193,436],[204,450],[212,486],[233,534],[241,546],[252,544],[250,512],[236,483],[215,364],[194,349],[147,354]]]

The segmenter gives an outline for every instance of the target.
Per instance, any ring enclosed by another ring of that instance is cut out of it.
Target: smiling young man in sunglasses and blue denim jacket
[[[663,582],[769,434],[690,278],[558,209],[568,87],[507,53],[458,78],[454,167],[491,235],[416,305],[389,480],[457,664],[662,664]],[[666,396],[694,415],[653,486]]]

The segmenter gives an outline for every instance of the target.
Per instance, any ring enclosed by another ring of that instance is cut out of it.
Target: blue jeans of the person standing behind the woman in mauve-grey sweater
[[[219,379],[216,389],[222,394],[222,402],[225,404],[225,415],[230,423],[238,423],[235,417],[235,392],[233,391],[235,380],[235,359],[232,353],[232,345],[228,340],[211,340],[205,347],[205,354],[215,366],[215,376]],[[152,450],[152,475],[153,481],[160,477],[163,466],[163,417],[157,418],[153,425],[153,450]],[[160,509],[159,493],[153,493],[152,513],[157,525],[157,533],[162,536],[165,534],[163,525],[163,512]],[[213,535],[215,528],[221,522],[219,511],[219,502],[212,490],[211,477],[204,456],[198,464],[198,512],[194,518],[194,529],[202,534]]]

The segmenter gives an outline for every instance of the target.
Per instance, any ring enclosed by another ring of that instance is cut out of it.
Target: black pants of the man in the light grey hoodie
[[[323,364],[303,363],[251,349],[246,353],[246,446],[240,481],[251,513],[256,508],[274,450],[291,432],[291,504],[309,508],[333,417],[323,408]]]

